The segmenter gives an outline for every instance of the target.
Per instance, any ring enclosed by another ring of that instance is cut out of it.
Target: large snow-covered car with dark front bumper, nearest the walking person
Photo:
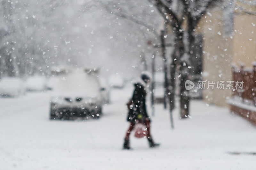
[[[103,102],[96,75],[76,69],[53,77],[53,82],[50,119],[100,118]]]

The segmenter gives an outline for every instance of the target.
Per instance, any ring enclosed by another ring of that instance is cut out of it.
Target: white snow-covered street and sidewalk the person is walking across
[[[133,150],[122,150],[126,106],[132,85],[112,90],[100,120],[50,121],[51,92],[0,99],[0,169],[255,169],[256,128],[228,109],[191,102],[192,119],[156,106],[152,135],[159,148],[131,135]]]

